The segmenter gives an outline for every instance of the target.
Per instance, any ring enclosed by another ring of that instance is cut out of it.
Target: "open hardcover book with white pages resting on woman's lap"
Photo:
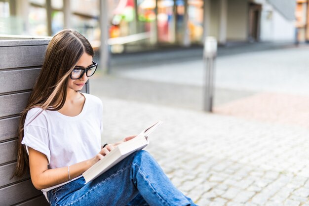
[[[92,165],[89,169],[82,173],[83,177],[86,180],[86,183],[100,176],[108,169],[119,163],[121,160],[128,157],[130,154],[134,153],[135,151],[142,150],[144,147],[146,147],[149,144],[148,135],[153,132],[154,129],[160,124],[162,124],[162,122],[158,121],[154,125],[144,129],[139,135],[137,135],[133,139],[119,144],[114,150],[104,156],[104,158],[102,158],[99,162]]]

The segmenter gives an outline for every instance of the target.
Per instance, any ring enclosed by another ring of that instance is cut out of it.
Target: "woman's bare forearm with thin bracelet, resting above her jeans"
[[[90,159],[74,165],[70,165],[71,180],[81,175],[93,164],[94,160]],[[42,173],[36,175],[35,177],[31,176],[31,178],[34,186],[39,190],[52,187],[70,180],[68,166],[55,169],[47,169]]]

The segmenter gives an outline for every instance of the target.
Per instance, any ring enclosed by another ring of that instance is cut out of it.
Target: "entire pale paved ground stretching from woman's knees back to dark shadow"
[[[102,141],[162,120],[147,150],[198,205],[309,206],[308,54],[219,56],[212,114],[201,111],[200,59],[99,74]]]

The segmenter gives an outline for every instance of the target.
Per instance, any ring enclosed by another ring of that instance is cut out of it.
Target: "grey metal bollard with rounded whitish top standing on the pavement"
[[[204,111],[212,112],[214,96],[214,64],[217,56],[217,40],[206,37],[204,42]]]

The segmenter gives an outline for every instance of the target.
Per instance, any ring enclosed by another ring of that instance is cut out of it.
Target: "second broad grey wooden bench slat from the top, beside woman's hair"
[[[0,93],[32,89],[40,68],[11,71],[0,70]]]

